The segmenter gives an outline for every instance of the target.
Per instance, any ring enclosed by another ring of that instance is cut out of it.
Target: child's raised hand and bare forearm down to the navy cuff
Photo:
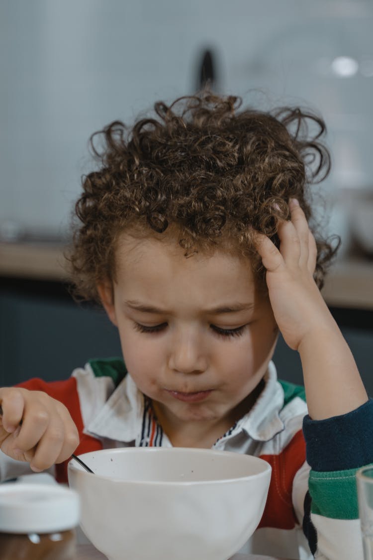
[[[325,304],[313,273],[316,244],[297,201],[278,227],[280,250],[258,234],[258,252],[278,328],[298,350],[309,415],[322,420],[356,409],[367,394],[350,348]]]

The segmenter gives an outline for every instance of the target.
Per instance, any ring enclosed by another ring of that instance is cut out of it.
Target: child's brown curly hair
[[[325,132],[319,116],[299,108],[239,110],[241,104],[239,97],[205,91],[155,103],[154,118],[130,129],[115,121],[92,135],[98,170],[83,177],[68,255],[75,295],[98,300],[97,283],[115,278],[122,232],[149,236],[167,228],[177,231],[186,256],[229,242],[251,258],[265,286],[254,232],[278,246],[278,219],[289,219],[290,198],[310,223],[310,185],[327,176],[330,157],[319,141]],[[313,135],[309,123],[317,128]],[[336,249],[318,237],[317,245],[315,281],[322,287]]]

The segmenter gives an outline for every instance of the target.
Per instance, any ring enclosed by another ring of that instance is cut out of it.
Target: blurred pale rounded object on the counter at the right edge
[[[373,258],[373,190],[356,189],[350,209],[353,241],[362,253]]]

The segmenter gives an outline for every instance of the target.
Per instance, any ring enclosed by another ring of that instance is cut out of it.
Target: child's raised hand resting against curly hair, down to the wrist
[[[285,342],[298,350],[305,335],[320,326],[335,329],[313,279],[317,248],[298,200],[291,200],[290,221],[278,226],[280,250],[258,234],[258,252],[267,269],[266,281],[273,314]]]

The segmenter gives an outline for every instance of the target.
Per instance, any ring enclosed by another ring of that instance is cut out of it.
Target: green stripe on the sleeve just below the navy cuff
[[[334,470],[320,473],[311,470],[309,493],[311,513],[332,519],[358,519],[356,471]]]

